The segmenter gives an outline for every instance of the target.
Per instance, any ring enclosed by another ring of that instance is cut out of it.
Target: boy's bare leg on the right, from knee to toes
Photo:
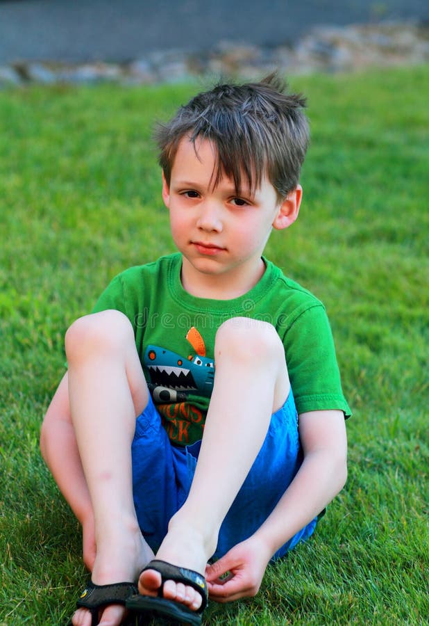
[[[226,321],[215,342],[214,389],[190,494],[172,517],[157,558],[201,573],[237,492],[264,442],[271,414],[289,393],[283,345],[271,324],[247,318]],[[146,570],[140,593],[155,595],[160,576]],[[164,595],[193,609],[192,588],[168,581]]]

